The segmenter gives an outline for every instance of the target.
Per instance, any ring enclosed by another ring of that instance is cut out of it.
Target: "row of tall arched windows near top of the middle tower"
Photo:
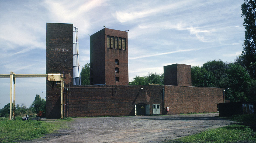
[[[107,36],[107,47],[126,50],[125,38]]]

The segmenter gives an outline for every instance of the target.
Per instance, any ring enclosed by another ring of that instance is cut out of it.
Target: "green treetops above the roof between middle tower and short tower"
[[[132,82],[129,82],[129,85],[148,85],[148,84],[158,84],[163,85],[164,84],[164,74],[158,74],[158,73],[148,73],[147,76],[136,76],[133,78]]]

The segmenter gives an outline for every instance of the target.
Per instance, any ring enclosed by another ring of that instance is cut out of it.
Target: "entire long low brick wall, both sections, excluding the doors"
[[[166,114],[217,112],[223,101],[222,88],[187,86],[67,86],[67,116],[134,116],[134,105],[160,104],[163,115],[163,88]],[[143,88],[143,89],[141,89]]]

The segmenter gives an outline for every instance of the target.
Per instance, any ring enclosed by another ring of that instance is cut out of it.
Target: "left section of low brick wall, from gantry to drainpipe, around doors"
[[[68,116],[134,116],[135,104],[150,104],[151,107],[152,104],[160,104],[162,107],[161,86],[116,86],[116,89],[115,86],[70,87],[67,92]]]

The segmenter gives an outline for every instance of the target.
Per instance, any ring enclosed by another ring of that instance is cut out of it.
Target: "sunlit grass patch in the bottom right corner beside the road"
[[[256,142],[256,135],[248,126],[233,124],[230,126],[220,127],[203,131],[202,133],[189,135],[177,140],[168,140],[166,142],[237,142],[253,141]]]

